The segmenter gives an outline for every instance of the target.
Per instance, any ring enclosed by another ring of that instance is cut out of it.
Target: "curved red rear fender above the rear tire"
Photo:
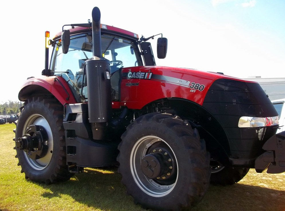
[[[18,98],[20,101],[26,101],[29,97],[35,95],[53,95],[62,105],[76,103],[68,83],[58,76],[41,76],[28,79],[21,87]]]

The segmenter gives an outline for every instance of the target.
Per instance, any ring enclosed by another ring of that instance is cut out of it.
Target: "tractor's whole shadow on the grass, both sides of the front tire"
[[[106,169],[106,168],[105,168]],[[92,209],[101,210],[144,210],[135,205],[133,198],[126,194],[121,184],[121,175],[117,168],[111,173],[87,168],[85,173],[75,175],[66,182],[44,185],[50,192],[43,197],[61,197],[69,195],[76,202]],[[87,172],[87,173],[86,173]],[[113,173],[112,173],[113,172]],[[236,183],[232,186],[210,186],[203,200],[192,210],[285,210],[285,191]]]

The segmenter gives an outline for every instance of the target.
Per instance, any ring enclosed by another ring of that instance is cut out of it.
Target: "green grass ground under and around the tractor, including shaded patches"
[[[25,180],[13,150],[15,124],[0,125],[0,211],[144,210],[121,185],[116,168],[85,168],[70,180],[40,184]],[[258,174],[254,169],[232,186],[210,186],[192,210],[285,210],[285,173]]]

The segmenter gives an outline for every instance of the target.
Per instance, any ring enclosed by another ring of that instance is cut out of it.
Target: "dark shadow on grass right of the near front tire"
[[[285,191],[239,183],[211,185],[203,200],[192,210],[285,211]]]

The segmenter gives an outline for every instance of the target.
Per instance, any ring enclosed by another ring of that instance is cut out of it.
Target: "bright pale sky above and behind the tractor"
[[[284,0],[10,1],[0,8],[2,89],[0,102],[17,100],[27,77],[44,69],[44,32],[87,23],[101,10],[101,23],[168,38],[157,65],[250,76],[285,77]],[[33,5],[33,6],[31,6]],[[12,9],[11,9],[12,8]],[[155,51],[156,39],[152,40]],[[7,75],[7,78],[5,78]],[[13,81],[13,82],[11,82]]]

